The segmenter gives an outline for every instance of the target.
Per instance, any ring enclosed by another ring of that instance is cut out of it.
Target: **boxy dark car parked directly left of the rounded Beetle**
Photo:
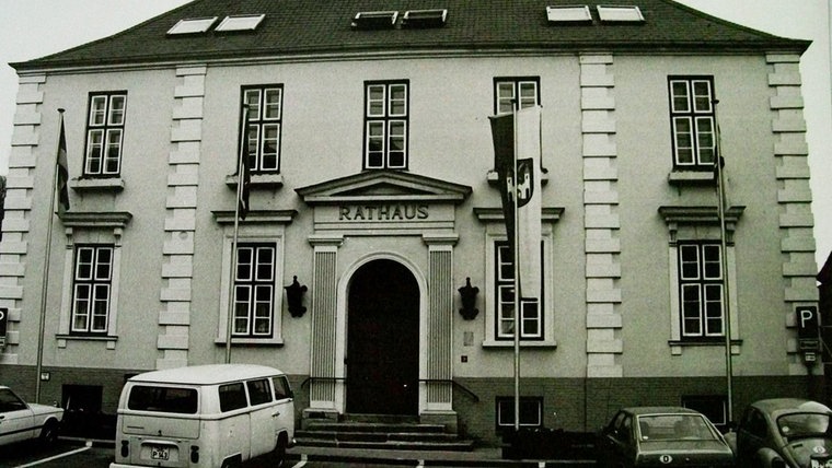
[[[598,434],[598,466],[733,466],[733,453],[708,419],[687,408],[623,408]]]

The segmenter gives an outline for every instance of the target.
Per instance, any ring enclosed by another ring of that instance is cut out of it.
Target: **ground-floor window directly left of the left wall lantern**
[[[270,338],[275,312],[274,244],[241,244],[234,278],[234,329],[238,338]]]

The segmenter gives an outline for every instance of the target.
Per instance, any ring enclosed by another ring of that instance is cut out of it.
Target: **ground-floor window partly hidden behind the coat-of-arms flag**
[[[495,278],[496,278],[496,304],[497,324],[496,339],[515,339],[515,260],[511,258],[508,243],[497,243],[495,246]],[[542,261],[542,260],[541,260]],[[541,265],[541,271],[543,265]],[[521,302],[520,307],[520,339],[543,339],[543,315],[539,301],[531,300]]]

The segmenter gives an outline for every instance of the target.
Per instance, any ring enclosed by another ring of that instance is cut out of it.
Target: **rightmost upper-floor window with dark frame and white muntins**
[[[716,117],[712,77],[668,79],[673,165],[712,171],[716,159]]]

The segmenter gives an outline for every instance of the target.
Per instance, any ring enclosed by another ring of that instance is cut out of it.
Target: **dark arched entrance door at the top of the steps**
[[[360,267],[347,303],[347,412],[416,414],[419,286],[393,260]]]

